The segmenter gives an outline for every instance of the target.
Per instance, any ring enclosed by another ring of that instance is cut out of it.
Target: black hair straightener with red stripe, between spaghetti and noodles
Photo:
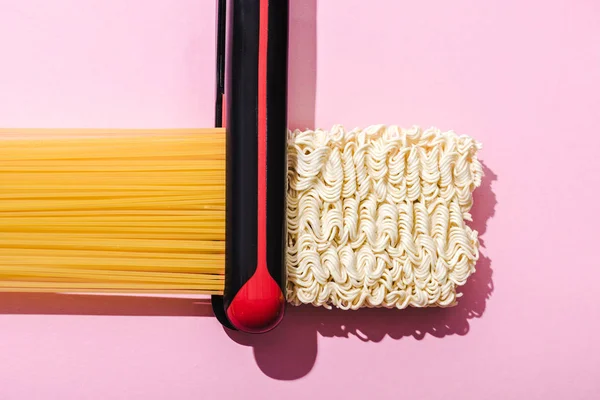
[[[288,0],[227,4],[223,309],[262,333],[285,310]]]

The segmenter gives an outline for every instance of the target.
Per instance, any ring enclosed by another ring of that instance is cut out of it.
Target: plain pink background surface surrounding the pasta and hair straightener
[[[600,3],[291,3],[291,127],[483,142],[463,301],[292,309],[246,337],[188,299],[0,295],[0,399],[597,398]],[[210,126],[214,20],[213,0],[0,0],[0,126]]]

